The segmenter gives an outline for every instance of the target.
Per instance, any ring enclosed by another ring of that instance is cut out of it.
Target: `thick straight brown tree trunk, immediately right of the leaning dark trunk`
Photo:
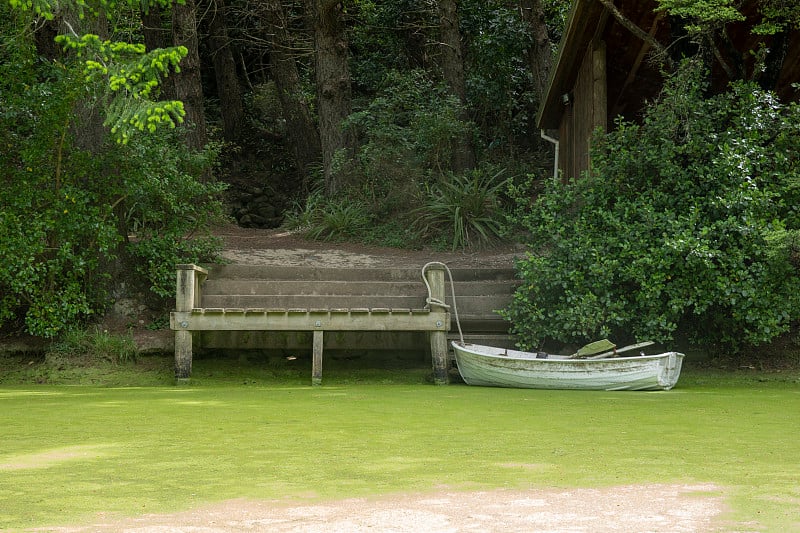
[[[351,148],[351,135],[342,129],[350,115],[351,88],[348,43],[342,21],[343,5],[338,0],[306,0],[314,34],[317,109],[320,146],[325,174],[325,191],[331,196],[340,184],[333,173],[337,151]]]

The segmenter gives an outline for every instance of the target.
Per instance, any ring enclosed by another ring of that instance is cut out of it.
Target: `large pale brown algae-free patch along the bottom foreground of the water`
[[[48,531],[202,532],[705,532],[725,508],[714,485],[495,490],[325,503],[232,500],[170,515]],[[106,517],[108,518],[108,517]],[[715,522],[716,521],[716,522]]]

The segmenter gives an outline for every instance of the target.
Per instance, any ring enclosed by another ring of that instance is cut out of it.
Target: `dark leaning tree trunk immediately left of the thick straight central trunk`
[[[283,4],[281,0],[266,0],[265,7],[265,23],[271,41],[270,72],[286,119],[289,145],[294,152],[298,172],[305,177],[308,165],[322,157],[319,132],[300,89],[297,63],[290,53],[292,41]]]

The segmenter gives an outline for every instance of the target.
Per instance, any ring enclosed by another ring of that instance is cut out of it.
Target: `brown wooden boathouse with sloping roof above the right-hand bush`
[[[655,11],[656,0],[614,0],[614,5],[662,45],[673,42],[675,28],[670,27],[669,17]],[[730,25],[729,35],[738,49],[750,50],[757,45],[750,32],[755,2],[746,1],[742,12],[751,18]],[[618,116],[636,120],[645,102],[658,95],[663,78],[651,52],[651,46],[599,0],[574,0],[538,116],[543,136],[556,143],[556,168],[562,177],[577,177],[589,168],[589,145],[597,128],[608,131]],[[752,69],[752,58],[745,56],[744,62]],[[712,77],[716,88],[727,86],[719,65]],[[794,31],[776,88],[782,99],[798,98],[792,87],[798,81],[800,32]]]

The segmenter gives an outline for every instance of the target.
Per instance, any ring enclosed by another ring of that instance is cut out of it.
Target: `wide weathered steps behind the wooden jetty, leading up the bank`
[[[317,268],[266,265],[209,267],[201,307],[240,309],[419,309],[427,289],[420,268]],[[511,301],[518,281],[511,268],[453,268],[456,309],[465,340],[512,346],[509,324],[495,311]],[[452,306],[449,278],[445,302]],[[451,309],[449,338],[458,338]],[[200,331],[200,350],[310,350],[309,331]],[[326,339],[326,351],[429,350],[423,332],[342,331]]]

